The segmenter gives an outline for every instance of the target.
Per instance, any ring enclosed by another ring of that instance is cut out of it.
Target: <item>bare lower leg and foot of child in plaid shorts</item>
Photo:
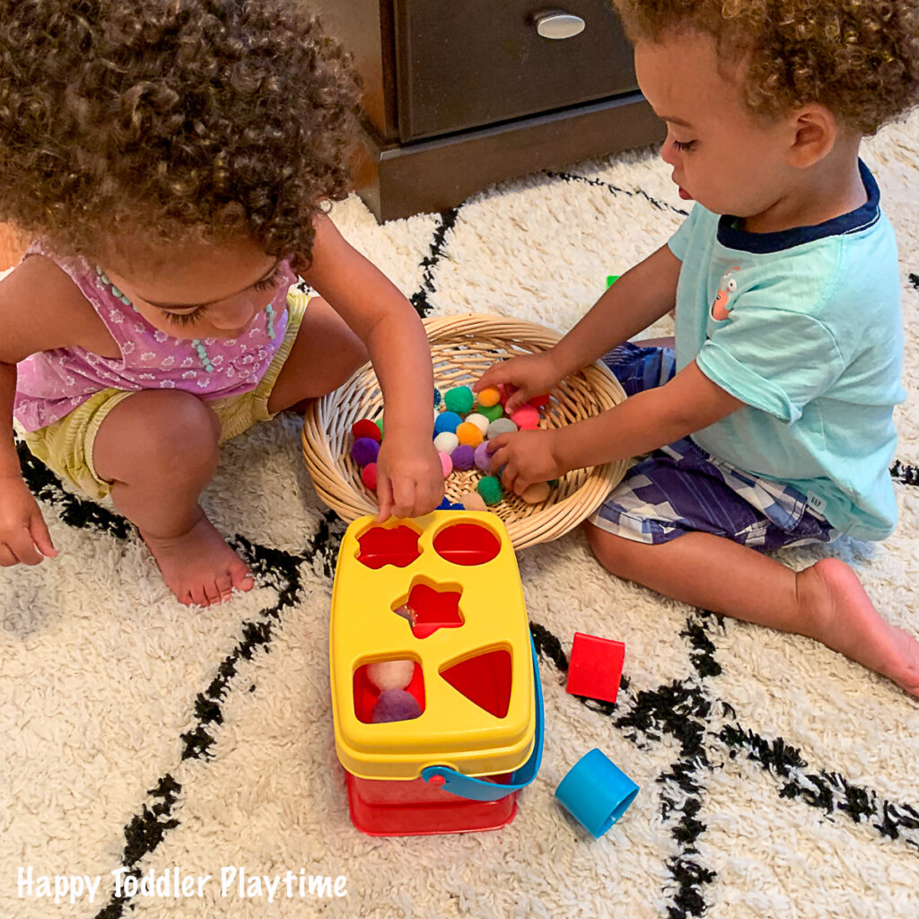
[[[688,533],[648,545],[587,525],[603,566],[665,596],[820,641],[919,697],[919,641],[881,618],[855,572],[823,559],[794,572],[731,539]]]

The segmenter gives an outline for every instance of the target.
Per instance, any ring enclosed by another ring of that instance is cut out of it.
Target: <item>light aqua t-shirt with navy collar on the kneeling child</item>
[[[830,524],[884,539],[897,520],[889,467],[905,393],[897,249],[878,186],[816,226],[747,233],[696,205],[670,240],[680,259],[676,367],[745,405],[692,435],[743,470],[788,482]]]

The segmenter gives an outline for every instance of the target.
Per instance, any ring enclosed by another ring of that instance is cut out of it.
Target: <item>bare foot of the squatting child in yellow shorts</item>
[[[204,511],[198,523],[181,536],[154,537],[143,530],[141,536],[179,603],[210,607],[229,599],[234,588],[252,590],[254,582],[245,562],[226,544]]]

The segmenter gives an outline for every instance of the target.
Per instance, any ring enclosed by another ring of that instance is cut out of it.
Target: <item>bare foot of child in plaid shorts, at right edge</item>
[[[919,641],[880,616],[845,562],[822,559],[799,572],[797,591],[806,634],[919,698]]]

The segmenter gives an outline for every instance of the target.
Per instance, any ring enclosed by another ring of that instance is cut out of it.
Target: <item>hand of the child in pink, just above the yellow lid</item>
[[[377,459],[377,522],[430,514],[444,497],[444,471],[429,435],[387,428]]]

